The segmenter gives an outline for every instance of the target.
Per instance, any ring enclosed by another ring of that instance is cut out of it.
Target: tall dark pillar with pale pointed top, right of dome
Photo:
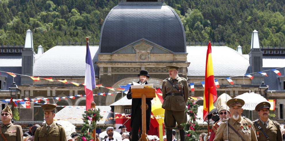
[[[249,55],[250,73],[263,71],[262,67],[262,51],[259,48],[258,32],[254,30],[251,37],[251,46]],[[253,74],[254,79],[252,79],[252,84],[260,84],[264,82],[264,76],[261,74]]]

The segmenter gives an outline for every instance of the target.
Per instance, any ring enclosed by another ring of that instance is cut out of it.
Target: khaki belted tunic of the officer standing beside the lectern
[[[173,87],[168,80],[170,80],[181,92]],[[162,108],[171,111],[185,111],[186,102],[189,97],[188,82],[185,78],[177,77],[175,79],[167,78],[162,82],[162,98],[164,99]],[[183,96],[167,96],[169,93],[181,93]]]

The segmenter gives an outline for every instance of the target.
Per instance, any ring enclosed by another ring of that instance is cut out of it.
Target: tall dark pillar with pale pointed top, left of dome
[[[33,76],[35,64],[35,52],[33,48],[33,34],[31,30],[26,31],[25,46],[22,51],[22,74]],[[26,76],[21,76],[21,84],[33,84],[33,80]]]

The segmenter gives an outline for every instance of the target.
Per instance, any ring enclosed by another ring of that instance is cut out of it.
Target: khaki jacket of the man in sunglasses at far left
[[[18,124],[13,124],[12,122],[8,124],[1,124],[1,131],[8,141],[23,141],[23,131],[22,127]],[[4,141],[0,135],[0,141]]]

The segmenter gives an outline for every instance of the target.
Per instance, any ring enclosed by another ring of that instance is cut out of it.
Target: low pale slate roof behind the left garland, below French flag
[[[77,109],[78,108],[78,109]],[[110,106],[96,106],[96,109],[100,109],[100,111],[110,111]],[[79,118],[83,118],[82,114],[84,114],[85,106],[74,106],[74,107],[64,107],[58,113],[56,113],[54,119],[68,119],[68,118],[77,118],[77,119],[69,119],[68,121],[71,124],[83,124],[83,120]],[[103,119],[108,119],[110,117],[114,117],[113,113],[100,112],[100,115],[103,116]],[[100,120],[97,124],[115,124],[114,119]]]

